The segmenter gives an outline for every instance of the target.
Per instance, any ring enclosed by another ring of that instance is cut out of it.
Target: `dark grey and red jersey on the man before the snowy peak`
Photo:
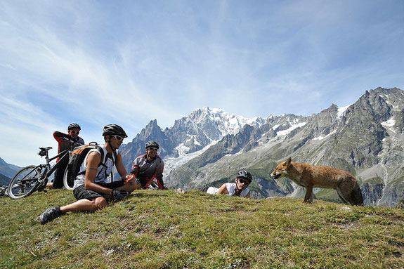
[[[153,179],[157,179],[159,188],[164,188],[163,181],[164,162],[159,155],[156,155],[155,159],[148,161],[147,155],[141,155],[136,157],[132,164],[131,174],[135,176],[142,188],[147,189],[152,183]]]

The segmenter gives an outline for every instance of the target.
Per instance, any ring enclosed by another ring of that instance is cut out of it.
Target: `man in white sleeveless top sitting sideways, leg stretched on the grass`
[[[90,150],[80,166],[79,175],[74,180],[73,195],[77,202],[66,206],[51,207],[39,216],[41,224],[48,223],[58,216],[70,211],[96,211],[107,206],[107,199],[124,199],[140,185],[134,179],[127,178],[122,155],[118,148],[124,142],[126,133],[117,124],[104,126],[105,144],[100,145],[103,159],[98,149]],[[107,183],[107,177],[112,173],[115,164],[119,176],[118,181]]]

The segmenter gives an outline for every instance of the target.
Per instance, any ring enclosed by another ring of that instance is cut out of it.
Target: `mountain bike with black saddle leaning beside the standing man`
[[[21,169],[11,180],[8,185],[8,197],[11,199],[19,199],[22,197],[27,197],[32,195],[32,192],[46,192],[46,183],[48,183],[48,178],[52,173],[63,164],[63,161],[70,157],[69,150],[64,150],[60,152],[55,157],[48,157],[48,151],[52,147],[39,147],[38,155],[45,157],[46,164],[39,164],[37,166],[30,165]],[[59,158],[59,161],[52,167],[50,162],[54,159]]]

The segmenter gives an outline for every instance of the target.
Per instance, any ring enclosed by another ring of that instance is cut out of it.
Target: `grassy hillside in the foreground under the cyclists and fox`
[[[0,268],[403,268],[404,211],[141,190],[46,225],[72,193],[0,199]]]

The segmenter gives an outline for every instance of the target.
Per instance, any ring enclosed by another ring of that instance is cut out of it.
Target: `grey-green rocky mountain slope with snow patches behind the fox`
[[[233,181],[244,168],[254,175],[254,197],[301,194],[288,180],[273,181],[276,164],[294,162],[344,169],[360,181],[365,204],[394,206],[404,193],[404,91],[366,91],[347,107],[331,105],[310,117],[268,117],[223,137],[167,177],[172,187],[202,188]],[[332,190],[316,195],[338,200]]]

